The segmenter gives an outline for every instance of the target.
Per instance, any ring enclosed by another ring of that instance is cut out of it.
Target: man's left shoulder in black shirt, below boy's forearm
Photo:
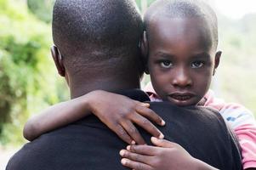
[[[118,153],[126,144],[94,120],[43,134],[15,153],[7,170],[125,169]]]

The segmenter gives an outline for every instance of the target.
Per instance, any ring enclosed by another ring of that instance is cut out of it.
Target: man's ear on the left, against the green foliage
[[[65,67],[59,49],[53,45],[51,53],[60,76],[65,77]]]

